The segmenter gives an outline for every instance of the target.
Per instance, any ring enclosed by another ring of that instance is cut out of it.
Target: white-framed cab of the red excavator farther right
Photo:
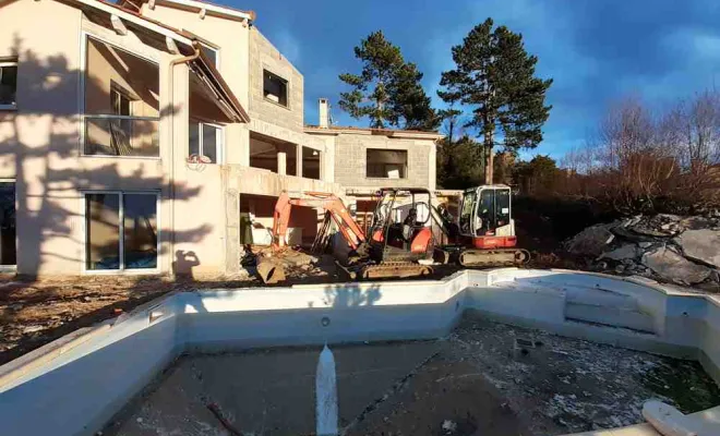
[[[514,247],[511,187],[482,185],[465,191],[458,226],[460,235],[476,249]]]

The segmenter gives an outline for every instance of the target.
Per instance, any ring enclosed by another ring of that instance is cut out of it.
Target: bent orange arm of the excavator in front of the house
[[[365,242],[364,232],[352,219],[340,198],[324,192],[307,192],[305,195],[311,198],[290,198],[287,192],[280,193],[273,211],[273,249],[287,246],[287,231],[292,206],[316,207],[328,211],[352,250],[357,250],[361,243]]]

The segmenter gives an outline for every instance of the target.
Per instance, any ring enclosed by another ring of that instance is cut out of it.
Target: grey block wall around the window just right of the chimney
[[[405,179],[368,178],[368,149],[408,152]],[[335,182],[345,186],[435,189],[435,144],[431,140],[341,133],[335,140]]]

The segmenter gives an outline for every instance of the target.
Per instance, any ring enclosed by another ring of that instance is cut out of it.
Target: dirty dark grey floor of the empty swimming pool
[[[643,422],[650,398],[685,413],[720,404],[695,362],[472,315],[443,340],[332,350],[346,435],[560,435]],[[104,435],[313,434],[319,353],[183,356]]]

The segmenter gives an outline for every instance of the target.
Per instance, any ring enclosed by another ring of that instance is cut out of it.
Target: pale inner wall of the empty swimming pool
[[[720,298],[563,270],[165,295],[0,367],[0,435],[93,435],[183,351],[431,339],[464,312],[699,360],[720,383]]]

